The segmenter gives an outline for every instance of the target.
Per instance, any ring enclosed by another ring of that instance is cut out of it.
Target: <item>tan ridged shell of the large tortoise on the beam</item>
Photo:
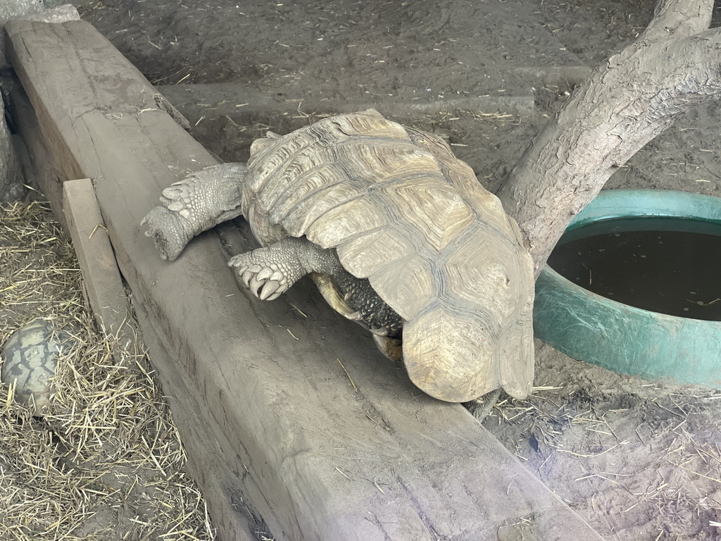
[[[368,278],[404,320],[417,387],[453,402],[528,394],[531,258],[444,141],[368,110],[259,139],[251,154],[241,205],[257,239],[305,236]]]

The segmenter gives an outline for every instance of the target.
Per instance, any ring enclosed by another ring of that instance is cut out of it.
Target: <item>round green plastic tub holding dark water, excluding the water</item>
[[[566,231],[600,220],[640,216],[721,224],[721,198],[607,190]],[[622,304],[572,283],[548,265],[536,281],[534,332],[536,338],[578,361],[645,379],[671,378],[721,388],[721,322]]]

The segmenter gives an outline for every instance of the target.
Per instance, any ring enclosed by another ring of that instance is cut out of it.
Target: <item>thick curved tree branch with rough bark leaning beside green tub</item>
[[[637,42],[598,66],[526,149],[497,194],[536,276],[573,216],[609,177],[691,107],[721,97],[721,29],[711,0],[661,0]]]

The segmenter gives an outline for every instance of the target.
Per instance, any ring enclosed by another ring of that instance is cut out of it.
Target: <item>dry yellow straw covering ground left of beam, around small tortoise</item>
[[[105,338],[46,203],[0,208],[0,344],[42,317],[69,330],[44,418],[0,389],[1,540],[213,540],[144,351]]]

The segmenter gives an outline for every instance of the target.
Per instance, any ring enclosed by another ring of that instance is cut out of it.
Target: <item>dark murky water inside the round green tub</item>
[[[570,230],[548,264],[596,294],[637,308],[721,321],[721,224],[634,217]]]

